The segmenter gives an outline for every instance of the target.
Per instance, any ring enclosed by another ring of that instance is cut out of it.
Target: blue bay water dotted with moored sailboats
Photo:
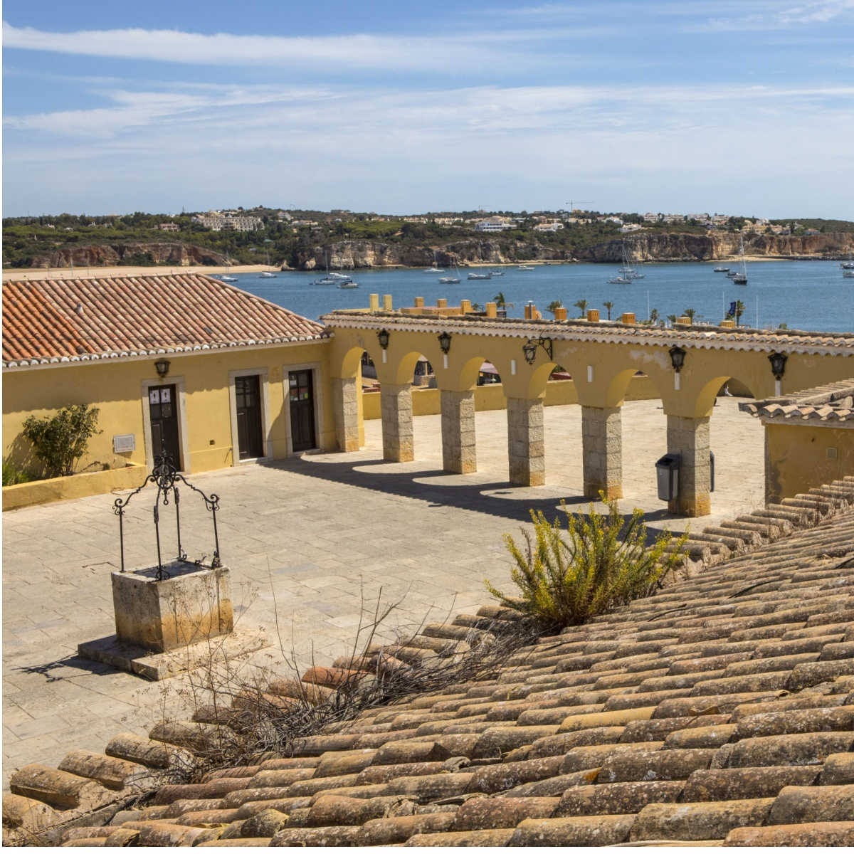
[[[693,308],[695,323],[717,324],[730,303],[740,300],[745,306],[743,326],[770,329],[786,324],[790,329],[854,331],[854,281],[843,277],[839,261],[748,262],[746,286],[714,272],[715,266],[719,263],[636,265],[644,278],[631,284],[609,284],[617,273],[617,265],[610,264],[542,264],[531,270],[502,266],[495,268],[504,272],[500,277],[483,281],[460,276],[459,284],[440,284],[438,276],[425,275],[422,268],[346,271],[360,285],[358,290],[313,284],[322,277],[319,271],[278,272],[275,278],[260,278],[257,272],[233,275],[237,287],[311,318],[336,308],[367,307],[372,293],[392,295],[395,307],[411,306],[416,296],[423,296],[428,304],[447,297],[451,304],[465,298],[483,306],[502,293],[508,317],[523,317],[529,300],[543,317],[550,317],[546,308],[554,300],[563,303],[570,318],[578,317],[573,304],[587,300],[588,308],[600,310],[601,319],[607,319],[603,303],[610,301],[614,319],[623,312],[646,319],[647,309],[658,309],[659,318],[666,319]],[[486,272],[489,268],[471,269]]]

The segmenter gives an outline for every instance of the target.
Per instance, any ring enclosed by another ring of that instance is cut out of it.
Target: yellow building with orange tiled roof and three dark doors
[[[115,470],[162,450],[198,472],[334,449],[329,345],[323,325],[202,275],[3,284],[3,459],[38,471],[23,422],[75,403],[100,411],[79,471],[103,475],[65,478],[70,494],[137,483]]]

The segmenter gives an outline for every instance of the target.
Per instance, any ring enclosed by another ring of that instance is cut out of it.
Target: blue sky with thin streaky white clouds
[[[3,215],[854,219],[854,0],[6,0]]]

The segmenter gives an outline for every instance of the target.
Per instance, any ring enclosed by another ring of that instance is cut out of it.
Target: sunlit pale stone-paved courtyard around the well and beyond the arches
[[[290,675],[277,640],[298,664],[328,664],[349,651],[362,603],[371,613],[400,602],[383,640],[427,617],[471,611],[489,601],[483,579],[501,586],[509,562],[501,542],[530,507],[553,516],[561,498],[583,510],[581,412],[547,407],[547,485],[507,483],[506,413],[477,414],[479,471],[442,472],[439,416],[415,418],[413,463],[382,460],[379,421],[366,422],[358,453],[314,454],[191,477],[220,496],[219,538],[231,567],[239,628],[264,626],[274,646],[252,664]],[[664,453],[659,401],[623,409],[621,509],[640,506],[650,529],[684,528],[656,497],[654,463]],[[713,514],[695,529],[763,503],[763,432],[756,419],[719,399],[711,419],[717,459]],[[151,494],[132,502],[128,565],[155,555]],[[77,657],[77,644],[114,631],[109,573],[118,569],[112,495],[26,507],[3,514],[3,784],[16,768],[56,765],[71,749],[102,751],[122,731],[144,734],[166,708],[178,714],[179,681],[149,683]],[[210,520],[182,493],[184,547],[209,555]],[[166,550],[173,551],[172,517]]]

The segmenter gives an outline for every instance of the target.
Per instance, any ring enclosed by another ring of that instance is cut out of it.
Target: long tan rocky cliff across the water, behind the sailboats
[[[712,234],[641,234],[626,238],[632,260],[640,261],[713,261],[728,260],[739,253],[739,235],[730,232]],[[412,246],[403,243],[379,243],[347,240],[327,246],[315,246],[297,254],[296,268],[322,270],[329,256],[332,270],[359,270],[383,266],[439,266],[467,264],[518,263],[526,260],[594,261],[618,263],[623,239],[614,239],[576,249],[498,238],[464,240],[445,246]],[[854,233],[839,232],[804,237],[749,234],[745,253],[780,259],[841,259],[854,253]]]

